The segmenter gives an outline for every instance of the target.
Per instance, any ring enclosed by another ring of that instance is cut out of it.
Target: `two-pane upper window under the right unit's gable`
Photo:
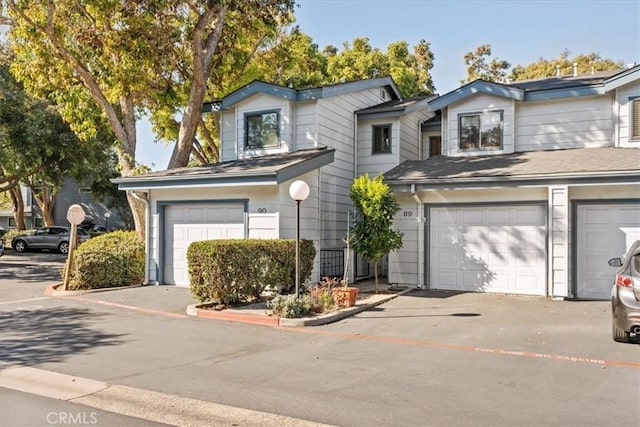
[[[502,111],[460,114],[458,136],[461,150],[502,148]]]

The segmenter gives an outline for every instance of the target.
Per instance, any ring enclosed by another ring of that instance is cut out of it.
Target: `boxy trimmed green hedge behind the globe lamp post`
[[[316,249],[300,241],[300,283],[311,277]],[[265,290],[288,293],[295,287],[296,241],[237,239],[194,242],[187,250],[191,294],[201,303],[236,304]]]

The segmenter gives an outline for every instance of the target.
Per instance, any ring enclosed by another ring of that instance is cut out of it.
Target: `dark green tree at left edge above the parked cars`
[[[24,203],[19,184],[28,185],[47,225],[53,225],[55,195],[69,176],[77,181],[99,174],[108,144],[91,138],[81,142],[55,106],[30,96],[9,73],[12,55],[0,45],[0,191],[10,193],[18,228],[24,228]],[[96,118],[99,121],[99,118]],[[104,126],[99,136],[113,136]]]

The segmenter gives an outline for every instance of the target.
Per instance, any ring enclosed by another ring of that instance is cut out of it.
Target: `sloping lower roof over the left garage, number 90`
[[[120,190],[194,186],[277,185],[333,162],[327,147],[230,160],[113,179]]]

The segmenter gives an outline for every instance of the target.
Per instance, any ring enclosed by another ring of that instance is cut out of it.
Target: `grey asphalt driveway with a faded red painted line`
[[[414,291],[274,328],[185,316],[181,288],[43,298],[3,262],[12,365],[341,426],[640,424],[640,347],[613,342],[607,302]]]

